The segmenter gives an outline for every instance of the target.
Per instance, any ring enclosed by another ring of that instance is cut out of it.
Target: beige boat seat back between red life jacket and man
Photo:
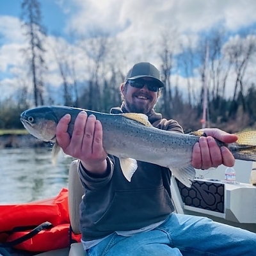
[[[68,173],[68,211],[70,225],[74,234],[80,234],[79,230],[79,205],[84,195],[84,189],[78,175],[78,160],[72,161]]]

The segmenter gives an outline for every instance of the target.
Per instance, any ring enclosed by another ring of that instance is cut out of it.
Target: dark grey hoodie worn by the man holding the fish
[[[121,108],[111,113],[127,113]],[[182,133],[174,120],[166,120],[154,109],[148,113],[150,123],[166,131]],[[131,182],[125,179],[119,159],[109,155],[105,177],[93,177],[79,164],[79,175],[84,186],[80,204],[82,239],[90,241],[108,236],[117,230],[136,230],[165,220],[173,212],[170,191],[171,172],[156,164],[138,161],[138,169]]]

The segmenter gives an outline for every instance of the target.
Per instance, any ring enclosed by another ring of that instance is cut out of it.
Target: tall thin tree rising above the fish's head
[[[44,104],[44,72],[46,70],[43,40],[46,35],[41,24],[41,10],[38,0],[23,0],[22,27],[29,46],[24,49],[24,55],[29,65],[29,73],[33,80],[35,106]]]

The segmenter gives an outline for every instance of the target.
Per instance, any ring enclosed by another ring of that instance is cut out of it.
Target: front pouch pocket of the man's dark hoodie
[[[99,231],[134,230],[164,220],[172,207],[163,186],[116,191],[108,209],[94,224]]]

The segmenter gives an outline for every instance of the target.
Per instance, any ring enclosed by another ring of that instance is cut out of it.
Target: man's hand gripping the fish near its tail
[[[235,159],[227,147],[218,147],[214,138],[224,143],[232,143],[237,140],[236,134],[229,134],[220,129],[202,129],[207,137],[200,137],[193,147],[191,164],[196,169],[209,169],[220,164],[234,166]]]

